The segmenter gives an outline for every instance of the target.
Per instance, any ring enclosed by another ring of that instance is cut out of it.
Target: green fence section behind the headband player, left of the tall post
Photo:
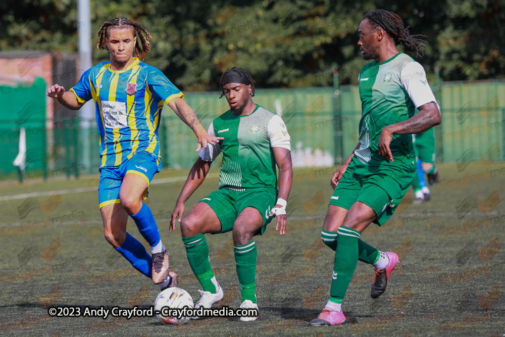
[[[305,90],[257,89],[254,102],[280,114],[291,135],[293,164],[296,166],[331,166],[334,154],[334,112],[332,89],[315,88]],[[208,127],[212,120],[229,109],[221,93],[188,93],[186,102],[193,108],[198,119]],[[197,155],[194,153],[196,140],[170,110],[162,113],[165,121],[163,136],[166,139],[166,163],[174,167],[189,167]],[[181,145],[184,142],[184,145]],[[182,151],[181,151],[182,150]],[[164,162],[165,164],[165,162]]]

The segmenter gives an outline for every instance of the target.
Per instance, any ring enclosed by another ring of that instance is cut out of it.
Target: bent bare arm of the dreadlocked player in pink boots
[[[423,104],[418,109],[419,112],[408,120],[388,125],[382,129],[378,143],[379,155],[384,157],[388,163],[393,161],[393,155],[389,149],[393,134],[420,133],[442,122],[440,110],[435,102]]]

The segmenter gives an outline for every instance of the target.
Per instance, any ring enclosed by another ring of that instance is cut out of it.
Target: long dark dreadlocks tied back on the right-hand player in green
[[[373,29],[384,29],[393,39],[396,44],[399,44],[408,52],[416,52],[420,58],[423,57],[424,51],[429,43],[428,41],[416,37],[426,37],[426,35],[410,35],[409,27],[403,27],[401,18],[386,10],[375,9],[368,12],[363,20],[368,19],[368,22]],[[421,53],[421,54],[420,54]]]

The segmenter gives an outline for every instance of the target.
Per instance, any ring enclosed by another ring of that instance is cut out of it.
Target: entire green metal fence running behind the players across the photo
[[[442,124],[435,128],[437,161],[505,160],[505,82],[450,82],[432,88],[442,113]],[[27,175],[70,177],[98,172],[96,126],[83,130],[80,119],[75,118],[53,121],[53,127],[47,128],[41,118],[45,113],[40,106],[45,99],[43,81],[34,83],[29,95],[21,93],[21,89],[19,93],[10,90],[2,95],[1,102],[4,158],[0,175],[16,172],[12,161],[18,153],[21,126],[27,130]],[[220,92],[186,93],[185,101],[206,128],[228,110],[220,95]],[[33,102],[40,101],[38,108],[28,106],[27,97]],[[282,116],[291,135],[294,166],[338,164],[358,142],[361,118],[358,86],[338,86],[336,79],[332,88],[257,89],[254,101]],[[29,118],[22,118],[26,116]],[[198,156],[195,136],[167,106],[162,112],[159,136],[163,167],[189,168],[194,163]],[[83,137],[89,139],[90,163],[83,163],[84,147],[78,141]]]

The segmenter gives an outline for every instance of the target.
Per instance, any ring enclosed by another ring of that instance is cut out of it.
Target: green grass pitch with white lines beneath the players
[[[287,235],[275,232],[274,220],[263,236],[255,237],[261,317],[254,322],[207,318],[181,326],[162,324],[156,317],[48,316],[49,306],[149,308],[159,291],[103,237],[97,175],[22,186],[3,181],[1,334],[502,336],[505,163],[486,167],[471,163],[462,172],[454,163],[438,167],[442,180],[431,186],[431,201],[416,205],[411,192],[388,223],[372,224],[362,235],[370,245],[400,257],[387,291],[372,299],[373,268],[358,263],[343,303],[347,321],[332,327],[308,327],[307,322],[329,297],[334,253],[322,245],[320,233],[334,168],[296,169]],[[179,228],[168,231],[186,175],[180,170],[157,174],[148,205],[169,249],[171,270],[180,275],[180,287],[197,301],[199,283],[187,262]],[[215,188],[217,178],[209,179],[186,202],[186,210]],[[128,228],[141,239],[131,220]],[[207,242],[211,265],[225,291],[222,305],[238,308],[240,288],[231,237],[231,233],[207,235]]]

